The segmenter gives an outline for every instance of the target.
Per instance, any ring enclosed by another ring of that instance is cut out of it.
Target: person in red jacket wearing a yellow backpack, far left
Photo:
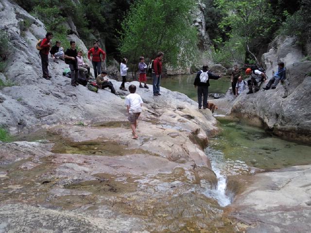
[[[49,51],[51,48],[51,40],[53,38],[52,33],[47,33],[45,35],[45,38],[42,40],[40,47],[42,50],[40,50],[39,54],[41,57],[41,65],[42,65],[42,72],[43,76],[42,78],[45,78],[47,80],[50,80],[52,76],[49,75]]]

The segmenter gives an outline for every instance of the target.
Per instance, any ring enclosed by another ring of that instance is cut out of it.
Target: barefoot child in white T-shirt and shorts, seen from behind
[[[131,94],[129,94],[125,98],[125,105],[127,107],[127,113],[128,113],[128,120],[130,122],[131,128],[132,128],[132,133],[133,133],[133,139],[137,139],[138,135],[136,133],[136,128],[137,128],[137,119],[142,111],[142,103],[143,101],[141,100],[141,97],[136,94],[136,86],[135,85],[130,85],[129,86],[129,91]]]

